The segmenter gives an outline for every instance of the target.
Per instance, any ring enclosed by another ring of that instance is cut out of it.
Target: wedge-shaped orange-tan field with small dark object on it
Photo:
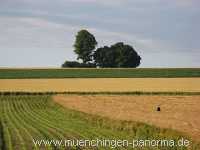
[[[58,95],[54,100],[73,110],[172,128],[200,140],[200,96]]]

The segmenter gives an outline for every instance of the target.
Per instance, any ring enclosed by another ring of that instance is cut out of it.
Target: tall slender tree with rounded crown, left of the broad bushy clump
[[[92,52],[97,46],[95,37],[87,30],[81,30],[76,35],[74,52],[78,55],[77,59],[82,59],[83,63],[92,60]]]

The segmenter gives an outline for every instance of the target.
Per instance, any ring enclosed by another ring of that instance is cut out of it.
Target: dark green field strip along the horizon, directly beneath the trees
[[[176,69],[0,69],[0,79],[200,77],[200,68]]]

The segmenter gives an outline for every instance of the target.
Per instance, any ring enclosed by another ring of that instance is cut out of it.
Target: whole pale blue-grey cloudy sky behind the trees
[[[75,35],[124,42],[140,67],[200,67],[199,0],[0,0],[0,67],[60,67]]]

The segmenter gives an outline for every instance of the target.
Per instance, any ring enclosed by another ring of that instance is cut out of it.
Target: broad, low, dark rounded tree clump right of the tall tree
[[[136,68],[140,65],[141,57],[130,45],[119,42],[111,47],[98,48],[93,55],[97,66],[105,68]]]

